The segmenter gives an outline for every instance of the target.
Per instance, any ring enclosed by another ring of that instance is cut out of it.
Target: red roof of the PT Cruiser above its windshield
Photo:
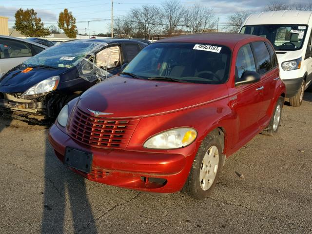
[[[177,37],[165,38],[158,40],[154,43],[161,42],[193,42],[193,43],[211,43],[217,45],[225,45],[230,48],[240,41],[248,41],[249,39],[258,38],[259,40],[264,40],[259,36],[249,35],[249,34],[239,34],[239,33],[200,33],[191,35],[182,35]]]

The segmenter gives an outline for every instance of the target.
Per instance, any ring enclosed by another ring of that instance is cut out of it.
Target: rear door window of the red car
[[[268,48],[264,44],[264,41],[257,41],[252,43],[254,47],[254,55],[257,59],[259,66],[259,74],[264,74],[272,69],[272,62]]]

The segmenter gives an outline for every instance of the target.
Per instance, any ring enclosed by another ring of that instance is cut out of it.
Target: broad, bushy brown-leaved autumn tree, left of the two
[[[44,23],[37,17],[34,9],[23,10],[20,8],[15,13],[15,27],[26,37],[44,37],[50,35],[49,29],[44,28]]]

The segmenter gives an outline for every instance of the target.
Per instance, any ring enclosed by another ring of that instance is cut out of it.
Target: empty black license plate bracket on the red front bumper
[[[79,171],[90,173],[92,167],[93,154],[71,147],[66,147],[64,164]]]

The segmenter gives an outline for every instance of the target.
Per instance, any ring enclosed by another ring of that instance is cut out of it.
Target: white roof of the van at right
[[[309,24],[312,11],[267,11],[250,15],[244,25]]]

